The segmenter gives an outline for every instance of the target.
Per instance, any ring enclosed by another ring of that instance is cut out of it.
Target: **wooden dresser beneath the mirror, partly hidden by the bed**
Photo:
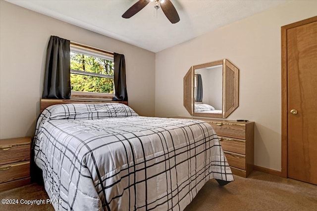
[[[182,118],[209,123],[219,137],[222,149],[233,174],[248,177],[254,166],[254,122]]]

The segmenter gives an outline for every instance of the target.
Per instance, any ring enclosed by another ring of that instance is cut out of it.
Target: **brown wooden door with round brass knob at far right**
[[[317,184],[317,17],[288,26],[287,176]]]

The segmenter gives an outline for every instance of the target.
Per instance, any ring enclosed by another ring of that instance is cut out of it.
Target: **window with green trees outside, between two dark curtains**
[[[111,98],[114,94],[113,55],[106,51],[70,45],[71,98]]]

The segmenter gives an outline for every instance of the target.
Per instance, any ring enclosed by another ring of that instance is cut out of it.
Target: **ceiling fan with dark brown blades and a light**
[[[178,13],[170,0],[138,0],[123,15],[123,18],[131,18],[133,15],[143,9],[150,1],[155,2],[154,8],[162,8],[165,16],[171,23],[177,23],[180,19]]]

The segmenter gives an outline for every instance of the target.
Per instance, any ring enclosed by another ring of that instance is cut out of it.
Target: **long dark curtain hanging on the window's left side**
[[[70,41],[51,36],[42,98],[70,99]]]

